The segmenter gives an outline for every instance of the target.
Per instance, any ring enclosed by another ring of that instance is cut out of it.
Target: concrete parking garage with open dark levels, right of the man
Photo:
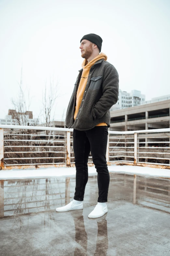
[[[170,127],[170,99],[110,111],[110,130],[128,131]]]

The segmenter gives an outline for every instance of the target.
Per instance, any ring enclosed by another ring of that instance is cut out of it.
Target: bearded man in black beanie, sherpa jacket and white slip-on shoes
[[[76,188],[73,201],[56,208],[57,212],[83,209],[83,199],[88,181],[88,158],[97,171],[99,196],[89,218],[107,212],[107,195],[110,176],[106,162],[110,108],[118,101],[119,75],[101,53],[102,38],[88,34],[80,40],[81,57],[84,58],[74,90],[68,104],[65,124],[73,128],[73,150],[76,166]]]

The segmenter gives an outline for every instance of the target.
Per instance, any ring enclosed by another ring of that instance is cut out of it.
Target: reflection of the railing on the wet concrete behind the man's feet
[[[95,205],[96,177],[89,177],[85,199]],[[75,178],[0,180],[0,217],[54,210],[73,198]],[[133,198],[132,198],[133,197]],[[170,180],[138,175],[110,174],[109,200],[127,200],[170,212]],[[91,202],[92,201],[92,202]],[[158,207],[159,205],[159,207]]]

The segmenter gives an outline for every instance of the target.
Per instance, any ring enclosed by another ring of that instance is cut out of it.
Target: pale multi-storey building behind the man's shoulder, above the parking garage
[[[145,94],[141,91],[132,90],[130,93],[119,89],[118,102],[113,105],[110,111],[138,106],[145,101]]]

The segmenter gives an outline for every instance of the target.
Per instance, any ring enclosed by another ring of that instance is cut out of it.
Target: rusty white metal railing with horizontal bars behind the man
[[[0,168],[75,166],[73,129],[0,125]],[[170,128],[110,131],[107,164],[170,169]],[[92,156],[89,156],[92,165]]]

